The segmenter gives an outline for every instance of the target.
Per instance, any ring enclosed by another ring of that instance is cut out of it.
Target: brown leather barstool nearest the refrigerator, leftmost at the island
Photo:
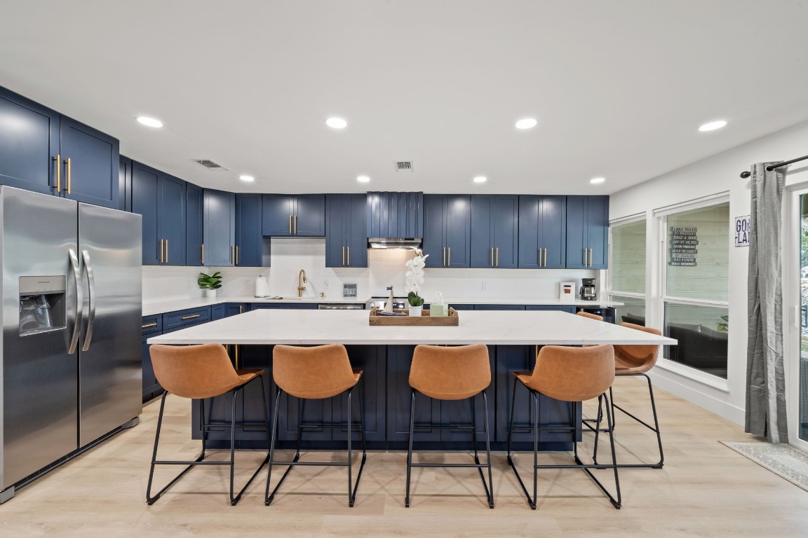
[[[203,344],[191,346],[171,346],[154,344],[149,348],[154,375],[160,385],[165,389],[160,401],[160,415],[157,421],[157,432],[154,436],[154,453],[152,454],[151,470],[149,471],[149,485],[146,488],[146,503],[154,504],[164,491],[173,486],[185,473],[196,465],[229,465],[230,466],[230,504],[235,505],[242,498],[244,490],[255,479],[263,466],[269,461],[269,455],[263,459],[259,468],[247,481],[246,485],[234,496],[234,470],[235,446],[237,427],[255,427],[263,424],[267,432],[269,443],[269,420],[267,418],[267,395],[263,388],[263,370],[237,370],[230,363],[224,346],[221,344]],[[236,402],[238,393],[242,392],[247,383],[258,380],[263,396],[263,423],[236,423]],[[210,423],[205,420],[204,401],[206,398],[221,396],[226,393],[233,394],[232,415],[229,423]],[[160,442],[160,429],[162,427],[162,413],[166,407],[166,396],[175,394],[182,398],[200,400],[200,426],[202,428],[202,452],[194,461],[165,461],[157,459],[157,448]],[[211,427],[230,427],[230,460],[204,461],[208,430]],[[154,478],[154,465],[187,465],[167,486],[152,496],[151,486]]]

